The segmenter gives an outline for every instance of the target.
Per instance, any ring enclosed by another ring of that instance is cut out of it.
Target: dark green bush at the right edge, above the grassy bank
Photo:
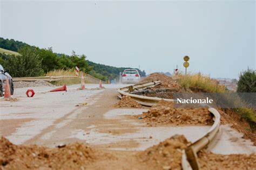
[[[248,93],[256,92],[256,72],[252,69],[247,69],[241,72],[238,80],[237,92]]]

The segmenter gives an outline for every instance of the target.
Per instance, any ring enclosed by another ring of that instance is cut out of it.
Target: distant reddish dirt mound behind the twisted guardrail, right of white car
[[[177,84],[176,81],[172,79],[172,77],[169,77],[167,75],[160,74],[160,73],[152,73],[149,76],[147,76],[145,79],[140,81],[140,83],[145,83],[148,81],[157,81],[157,80],[160,80],[161,84],[153,87],[153,89],[159,89],[159,88],[180,89],[180,86]]]

